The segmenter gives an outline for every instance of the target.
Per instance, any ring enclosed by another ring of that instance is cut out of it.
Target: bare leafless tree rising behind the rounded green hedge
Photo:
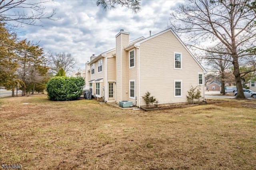
[[[56,53],[48,57],[48,65],[56,74],[61,68],[68,73],[76,67],[78,61],[70,53]]]

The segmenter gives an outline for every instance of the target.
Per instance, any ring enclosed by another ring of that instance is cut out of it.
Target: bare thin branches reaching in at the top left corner
[[[0,0],[0,22],[13,29],[22,27],[23,24],[36,25],[36,22],[42,19],[54,20],[52,17],[55,15],[55,10],[46,14],[46,7],[43,6],[50,1],[52,0]]]

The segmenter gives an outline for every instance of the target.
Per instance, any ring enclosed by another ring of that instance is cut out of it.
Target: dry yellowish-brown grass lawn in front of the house
[[[0,98],[0,166],[22,169],[256,169],[256,100],[122,110],[46,95]]]

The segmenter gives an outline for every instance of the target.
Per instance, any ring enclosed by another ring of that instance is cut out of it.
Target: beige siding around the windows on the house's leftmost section
[[[101,59],[102,59],[102,72],[98,72],[98,61],[100,60],[100,59],[98,59],[97,61],[94,62],[94,65],[95,65],[94,74],[90,75],[91,76],[90,80],[93,80],[93,79],[96,80],[96,79],[103,78],[103,83],[102,82],[100,83],[100,97],[102,97],[102,94],[103,94],[102,87],[105,86],[105,58],[102,57]],[[98,83],[98,82],[93,83],[94,87],[96,87],[96,83]],[[94,90],[94,93],[96,93],[95,89],[93,89],[93,90]]]

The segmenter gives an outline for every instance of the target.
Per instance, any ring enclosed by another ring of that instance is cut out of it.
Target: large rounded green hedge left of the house
[[[53,77],[48,81],[46,91],[52,101],[75,100],[81,95],[83,85],[83,77]]]

